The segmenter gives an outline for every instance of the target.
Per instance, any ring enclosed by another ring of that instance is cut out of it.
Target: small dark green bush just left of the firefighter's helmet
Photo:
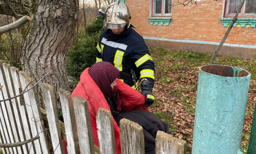
[[[85,27],[85,32],[89,36],[92,36],[95,33],[102,32],[102,30],[103,30],[103,23],[104,23],[103,17],[100,16],[100,17],[98,17],[98,19],[95,22],[93,22],[90,25]]]

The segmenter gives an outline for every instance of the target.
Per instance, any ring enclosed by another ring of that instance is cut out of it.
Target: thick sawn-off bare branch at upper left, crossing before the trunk
[[[25,15],[22,18],[20,18],[19,20],[17,20],[16,22],[13,22],[13,23],[11,23],[9,25],[6,25],[6,26],[2,26],[2,27],[0,27],[0,34],[6,33],[8,31],[16,29],[16,28],[19,28],[20,26],[22,26],[26,22],[30,21],[30,19],[31,18],[29,16]]]

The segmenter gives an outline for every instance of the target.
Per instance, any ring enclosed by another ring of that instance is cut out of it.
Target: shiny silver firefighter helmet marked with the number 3
[[[119,29],[127,25],[130,26],[130,11],[126,4],[117,0],[109,4],[105,10],[104,27],[108,29]]]

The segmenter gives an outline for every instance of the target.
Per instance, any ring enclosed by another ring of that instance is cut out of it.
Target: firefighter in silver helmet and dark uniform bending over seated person
[[[120,74],[118,78],[146,97],[145,104],[154,103],[154,62],[143,40],[131,23],[126,4],[117,0],[105,10],[104,28],[100,35],[96,62],[110,62]]]

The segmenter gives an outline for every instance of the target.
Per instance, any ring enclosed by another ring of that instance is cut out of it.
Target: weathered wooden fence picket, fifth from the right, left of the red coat
[[[60,103],[62,108],[63,119],[68,143],[68,154],[78,154],[78,136],[75,128],[74,110],[71,102],[70,92],[59,89]]]

